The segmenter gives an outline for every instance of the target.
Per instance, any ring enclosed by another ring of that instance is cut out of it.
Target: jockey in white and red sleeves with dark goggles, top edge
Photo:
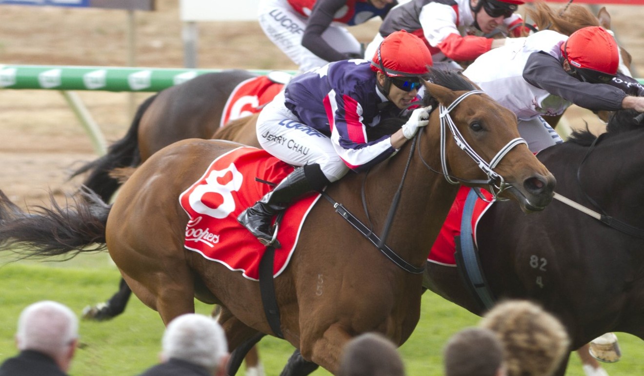
[[[511,30],[513,36],[521,36],[525,29],[523,19],[514,12],[523,3],[522,0],[410,0],[389,12],[374,41],[366,48],[365,56],[374,53],[383,37],[396,30],[407,30],[421,37],[430,48],[435,67],[461,70],[458,63],[472,61],[491,48],[512,42],[512,39],[492,39],[482,34],[502,26]]]

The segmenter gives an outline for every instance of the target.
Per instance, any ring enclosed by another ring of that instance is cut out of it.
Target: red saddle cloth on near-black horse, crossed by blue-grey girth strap
[[[456,244],[454,237],[460,235],[460,222],[463,218],[463,209],[465,207],[465,200],[468,198],[468,193],[471,188],[461,186],[459,193],[456,195],[454,203],[451,205],[450,213],[445,219],[442,228],[440,228],[439,236],[431,246],[430,255],[427,261],[435,262],[436,264],[456,266],[454,259],[454,252],[456,252]],[[492,195],[486,190],[481,190],[486,199],[491,199]],[[472,226],[472,236],[474,244],[477,244],[477,224],[483,214],[489,209],[491,203],[483,201],[480,197],[474,204],[474,212],[470,219]]]

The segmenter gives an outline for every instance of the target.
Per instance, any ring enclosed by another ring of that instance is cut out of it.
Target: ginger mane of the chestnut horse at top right
[[[535,1],[533,8],[527,8],[527,17],[532,19],[538,30],[554,30],[571,35],[586,26],[600,26],[597,17],[583,5],[569,4],[553,9],[544,1]]]

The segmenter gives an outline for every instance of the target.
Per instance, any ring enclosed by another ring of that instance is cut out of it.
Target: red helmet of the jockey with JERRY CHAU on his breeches
[[[422,39],[400,30],[380,43],[371,69],[387,77],[420,77],[428,74],[432,65],[430,50]]]

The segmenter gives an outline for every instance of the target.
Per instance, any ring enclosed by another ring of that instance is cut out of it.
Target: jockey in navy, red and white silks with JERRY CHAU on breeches
[[[238,221],[270,244],[272,218],[292,201],[321,190],[350,169],[364,171],[397,152],[428,124],[425,108],[413,110],[393,134],[369,134],[393,116],[392,110],[397,114],[420,99],[418,89],[431,64],[421,39],[401,31],[384,39],[371,62],[337,61],[292,79],[261,110],[257,137],[267,152],[299,167],[244,210]]]

